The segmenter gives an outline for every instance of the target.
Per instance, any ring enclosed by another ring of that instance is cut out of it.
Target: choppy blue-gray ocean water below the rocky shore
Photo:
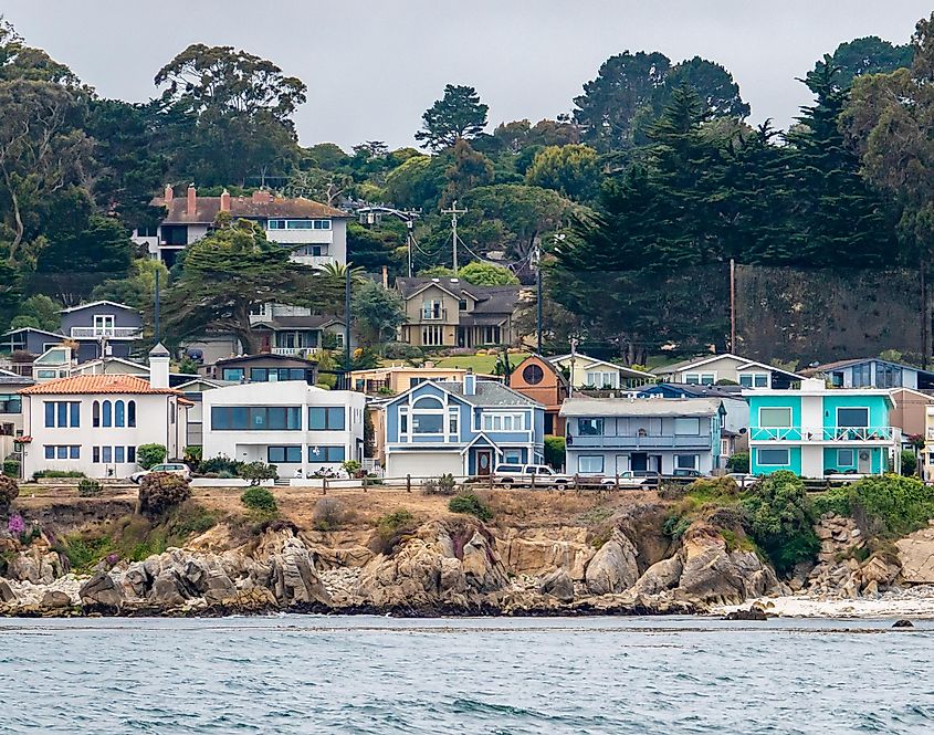
[[[934,623],[0,620],[0,733],[934,733]]]

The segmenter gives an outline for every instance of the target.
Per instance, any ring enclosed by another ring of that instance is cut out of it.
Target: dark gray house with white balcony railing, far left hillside
[[[95,301],[63,308],[62,334],[77,343],[77,361],[98,357],[129,357],[143,333],[143,315],[132,306]]]

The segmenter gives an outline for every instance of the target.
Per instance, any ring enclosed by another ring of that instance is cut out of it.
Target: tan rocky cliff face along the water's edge
[[[728,548],[705,522],[672,540],[662,531],[668,507],[657,497],[618,507],[585,500],[599,513],[589,505],[574,514],[565,508],[563,522],[537,506],[513,514],[501,507],[495,524],[429,514],[389,540],[364,522],[335,532],[273,523],[239,542],[221,523],[185,548],[140,561],[103,559],[90,578],[65,574],[43,537],[12,555],[0,580],[0,611],[644,615],[703,611],[781,591],[754,553]]]

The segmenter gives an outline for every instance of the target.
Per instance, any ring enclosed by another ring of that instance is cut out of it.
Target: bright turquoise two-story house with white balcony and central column
[[[892,426],[891,391],[828,388],[744,391],[749,401],[749,470],[790,470],[802,477],[899,471],[901,432]]]

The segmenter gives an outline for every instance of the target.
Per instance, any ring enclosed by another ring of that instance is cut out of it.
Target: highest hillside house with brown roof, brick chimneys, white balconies
[[[293,260],[308,265],[347,262],[347,221],[351,214],[311,199],[275,197],[270,191],[254,191],[250,197],[199,197],[189,186],[185,198],[176,197],[170,186],[153,200],[166,216],[151,230],[137,229],[134,241],[145,244],[154,258],[169,267],[178,253],[203,238],[213,228],[218,214],[259,224],[273,242],[292,250]]]

